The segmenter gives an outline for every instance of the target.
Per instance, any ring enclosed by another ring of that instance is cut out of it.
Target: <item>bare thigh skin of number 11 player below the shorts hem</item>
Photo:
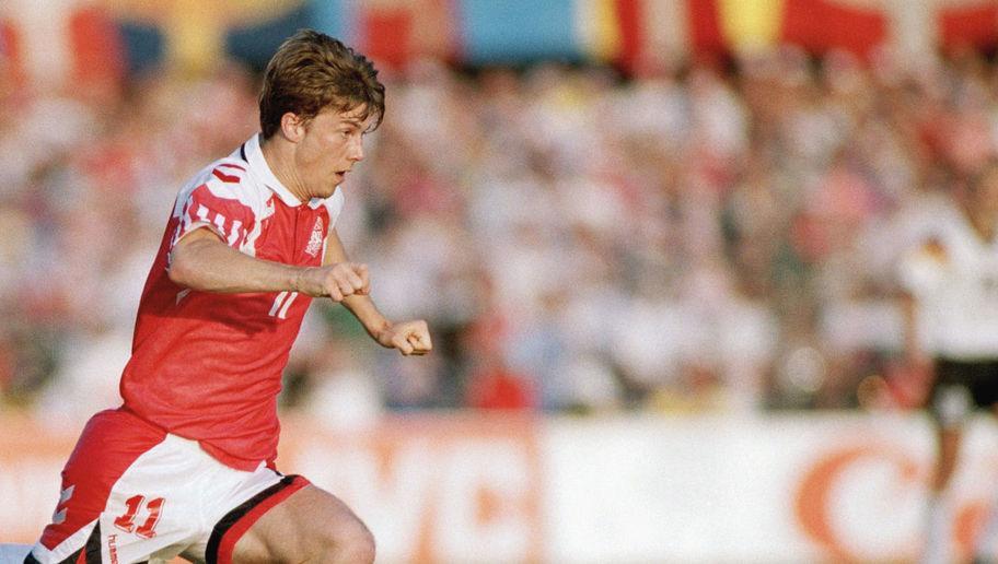
[[[314,485],[270,508],[235,544],[233,562],[371,562],[374,539],[335,495]]]

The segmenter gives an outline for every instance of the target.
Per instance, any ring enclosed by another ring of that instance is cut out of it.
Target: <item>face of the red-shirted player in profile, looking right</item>
[[[294,155],[306,196],[328,198],[353,165],[363,160],[363,136],[373,117],[362,119],[364,106],[347,111],[326,108],[305,125]]]

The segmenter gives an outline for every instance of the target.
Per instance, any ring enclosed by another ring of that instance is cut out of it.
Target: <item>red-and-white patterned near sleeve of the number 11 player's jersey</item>
[[[244,175],[233,165],[219,165],[205,181],[182,193],[183,201],[177,202],[179,222],[170,247],[187,234],[207,227],[230,247],[240,249],[256,224],[258,208]]]

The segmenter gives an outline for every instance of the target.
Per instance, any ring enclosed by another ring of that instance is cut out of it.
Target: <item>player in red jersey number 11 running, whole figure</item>
[[[281,372],[312,297],[345,305],[383,346],[432,348],[422,320],[391,322],[334,224],[384,86],[361,55],[313,31],[270,60],[262,132],[176,200],[121,376],[94,415],[25,562],[371,562],[374,541],[338,498],[275,468]]]

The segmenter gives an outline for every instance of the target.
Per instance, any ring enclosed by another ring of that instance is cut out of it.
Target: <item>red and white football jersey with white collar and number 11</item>
[[[186,289],[166,274],[170,252],[207,227],[252,257],[320,266],[343,202],[340,190],[299,202],[270,171],[258,136],[198,173],[177,197],[142,292],[121,375],[124,409],[198,440],[230,467],[272,461],[281,372],[312,299]]]

